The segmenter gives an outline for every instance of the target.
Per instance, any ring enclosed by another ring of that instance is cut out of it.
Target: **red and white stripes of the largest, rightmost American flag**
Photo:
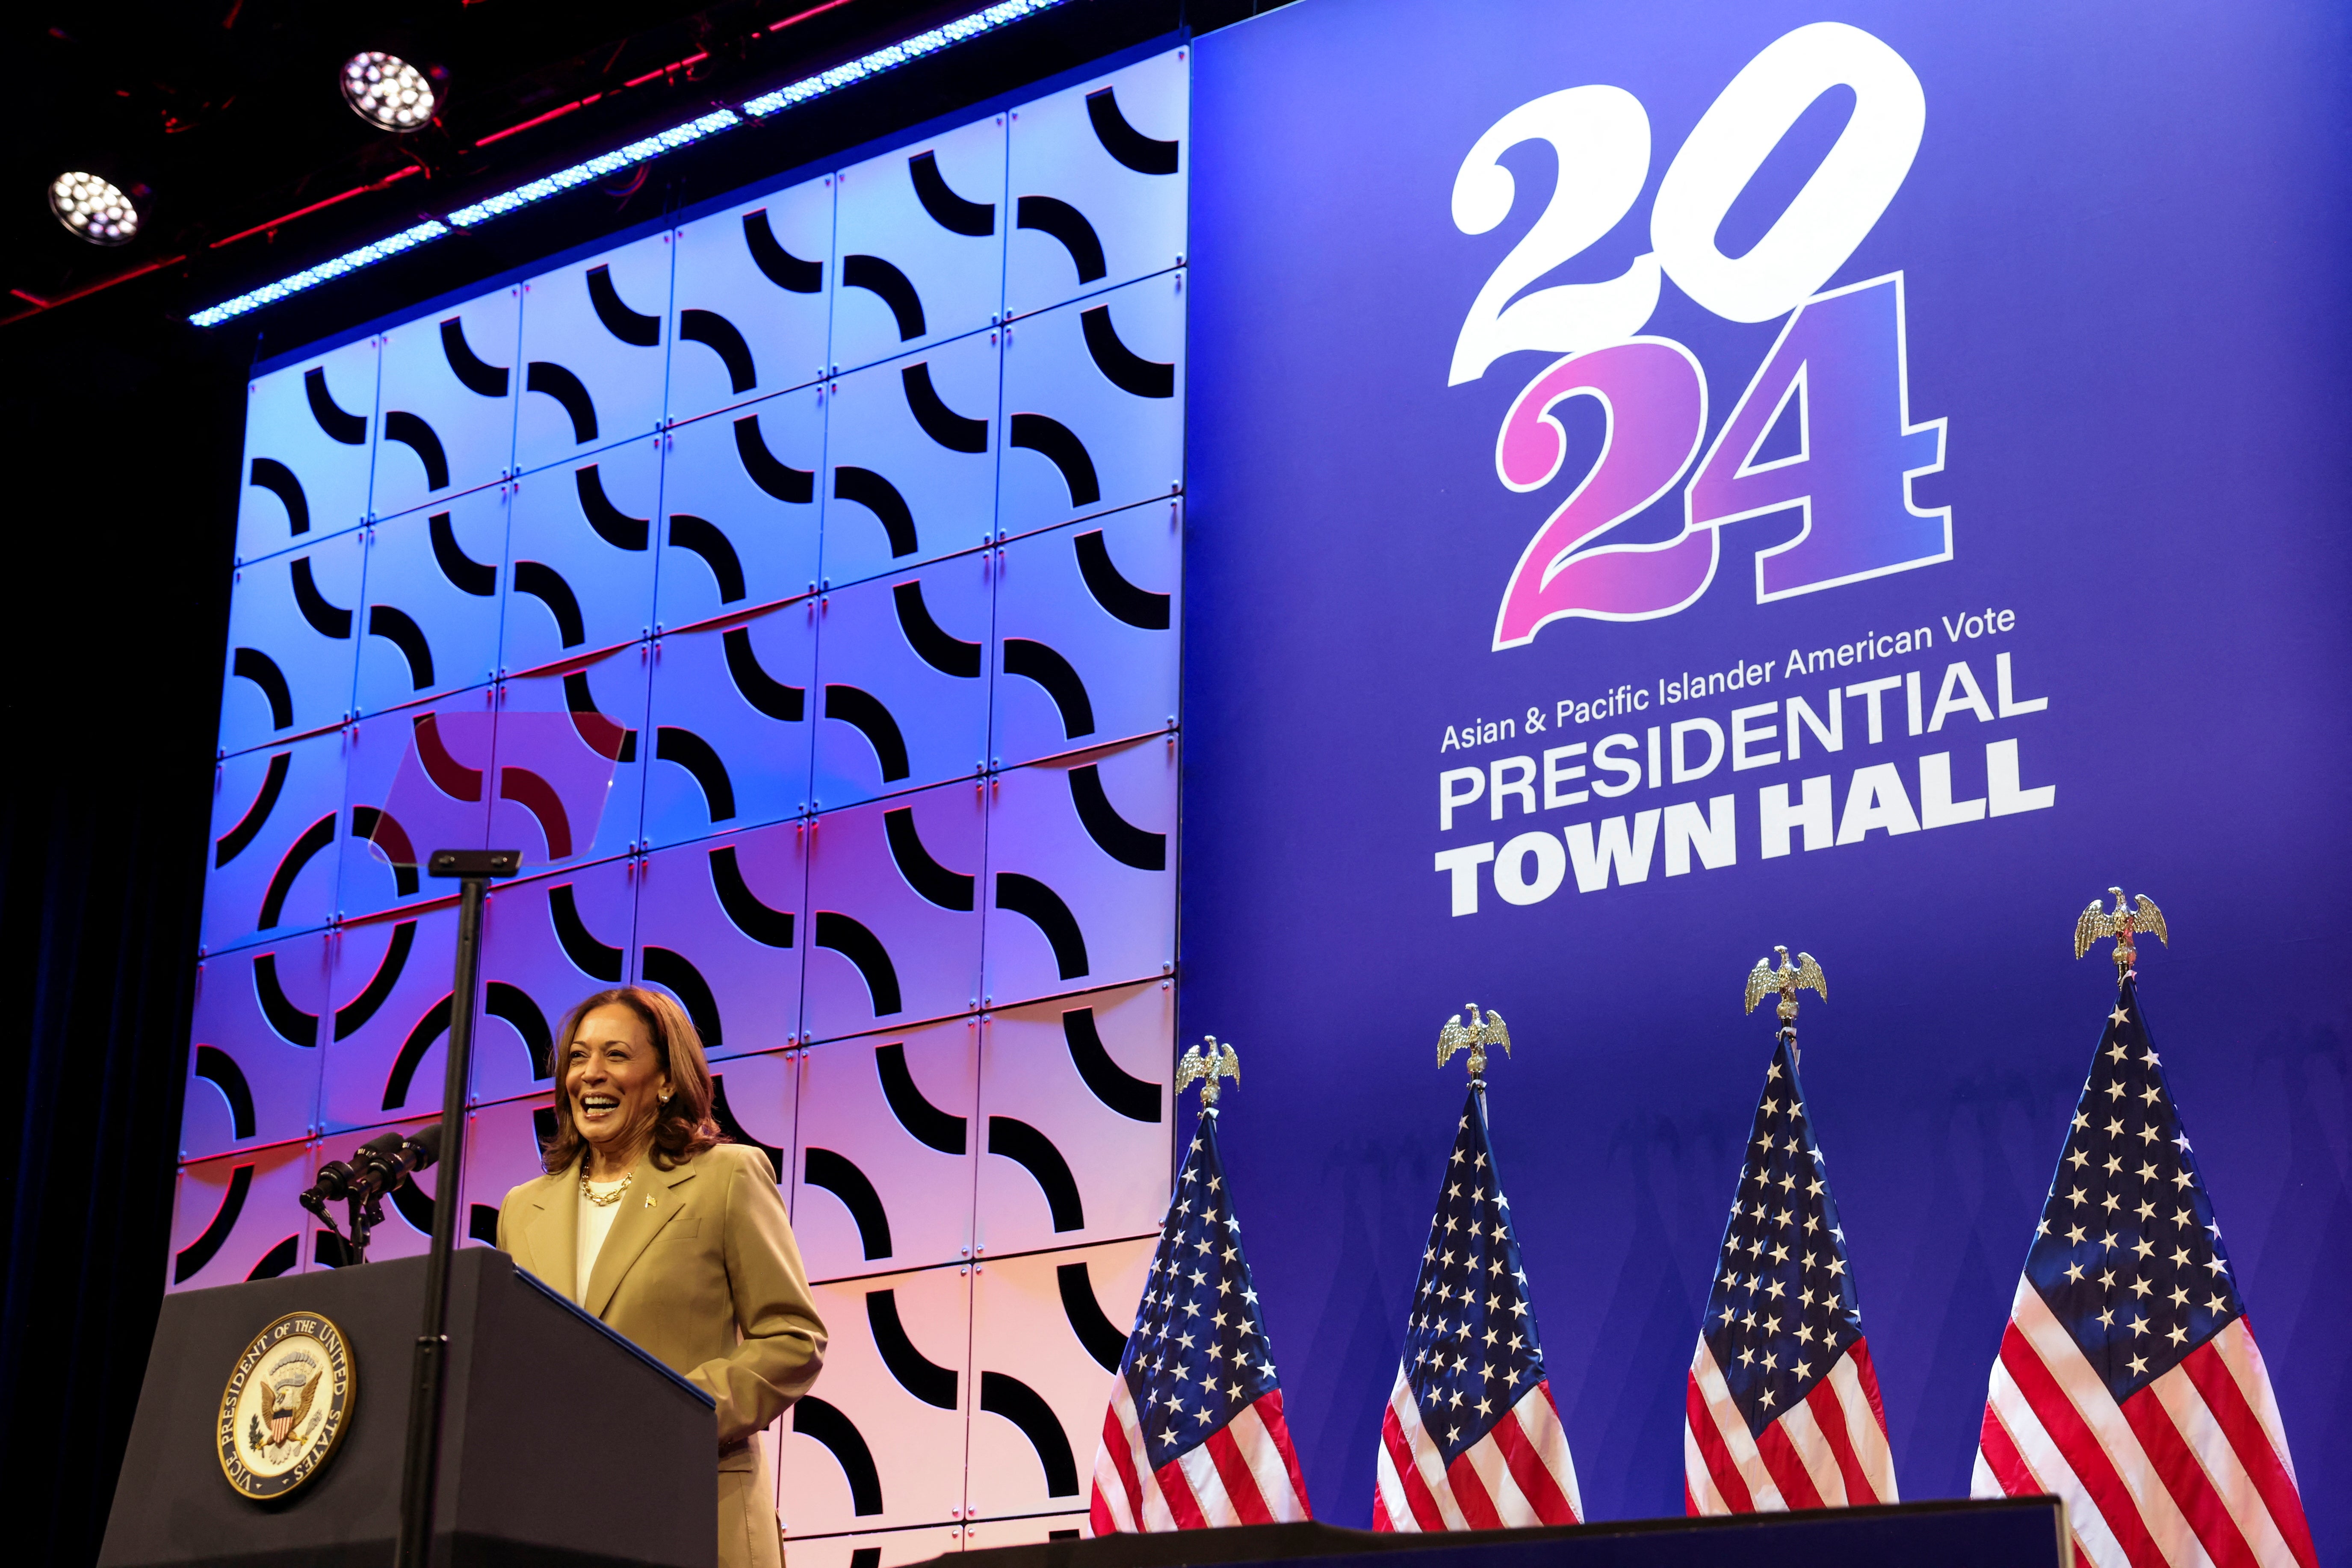
[[[2317,1568],[2253,1328],[2234,1319],[2117,1403],[2018,1281],[1976,1448],[1978,1497],[2056,1493],[2096,1568]]]

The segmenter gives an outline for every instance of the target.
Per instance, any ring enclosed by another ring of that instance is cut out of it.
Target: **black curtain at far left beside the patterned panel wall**
[[[125,294],[0,327],[0,1476],[31,1563],[96,1561],[169,1269],[252,353]]]

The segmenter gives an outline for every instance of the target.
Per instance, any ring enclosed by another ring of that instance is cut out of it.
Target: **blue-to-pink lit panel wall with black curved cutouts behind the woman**
[[[1188,73],[254,378],[172,1288],[348,1262],[296,1194],[440,1114],[419,863],[520,846],[473,1239],[562,1013],[668,990],[833,1335],[769,1436],[795,1561],[1077,1528],[1171,1150]]]

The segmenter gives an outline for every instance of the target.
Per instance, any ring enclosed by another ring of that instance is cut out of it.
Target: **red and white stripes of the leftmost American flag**
[[[1282,1389],[1244,1406],[1207,1439],[1150,1469],[1127,1378],[1110,1380],[1103,1446],[1094,1453],[1091,1535],[1296,1519],[1312,1514],[1291,1429],[1282,1420]]]

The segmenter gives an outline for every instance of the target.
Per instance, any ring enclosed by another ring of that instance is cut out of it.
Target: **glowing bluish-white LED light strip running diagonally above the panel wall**
[[[1063,5],[1063,0],[1002,0],[1000,5],[990,5],[983,12],[957,16],[955,21],[931,28],[929,33],[903,38],[884,49],[875,49],[873,54],[840,63],[833,71],[802,78],[788,87],[779,87],[776,92],[764,92],[757,99],[746,101],[741,106],[741,113],[736,113],[734,108],[710,110],[699,120],[675,125],[656,136],[630,141],[626,148],[619,148],[614,153],[590,158],[588,162],[576,162],[569,169],[557,169],[555,174],[534,179],[527,186],[501,190],[499,195],[473,202],[470,207],[459,207],[447,219],[426,219],[412,228],[400,230],[397,235],[386,235],[383,240],[362,244],[355,252],[343,252],[332,261],[320,261],[313,268],[303,268],[292,277],[280,277],[278,282],[266,282],[259,289],[238,294],[235,299],[223,299],[219,306],[207,306],[205,310],[195,310],[188,317],[188,322],[193,322],[195,327],[219,327],[221,322],[247,315],[249,310],[259,310],[261,306],[275,303],[289,294],[315,289],[318,284],[332,277],[341,277],[343,273],[358,273],[365,266],[374,266],[388,256],[397,256],[400,252],[416,249],[419,244],[426,244],[430,240],[440,240],[452,228],[480,228],[492,219],[501,219],[508,212],[520,212],[522,207],[543,202],[546,197],[557,195],[562,190],[572,190],[574,186],[586,186],[588,181],[597,181],[633,165],[661,158],[673,148],[682,148],[691,141],[703,141],[706,136],[715,136],[717,132],[734,129],[736,125],[743,125],[746,115],[753,120],[764,120],[797,103],[807,103],[809,99],[821,99],[830,92],[840,92],[842,87],[863,82],[866,78],[882,75],[894,66],[903,66],[927,54],[936,54],[950,45],[960,45],[967,38],[978,38],[981,33],[993,33],[995,28],[1002,28],[1011,21],[1021,21],[1023,16],[1049,12],[1056,5]]]

